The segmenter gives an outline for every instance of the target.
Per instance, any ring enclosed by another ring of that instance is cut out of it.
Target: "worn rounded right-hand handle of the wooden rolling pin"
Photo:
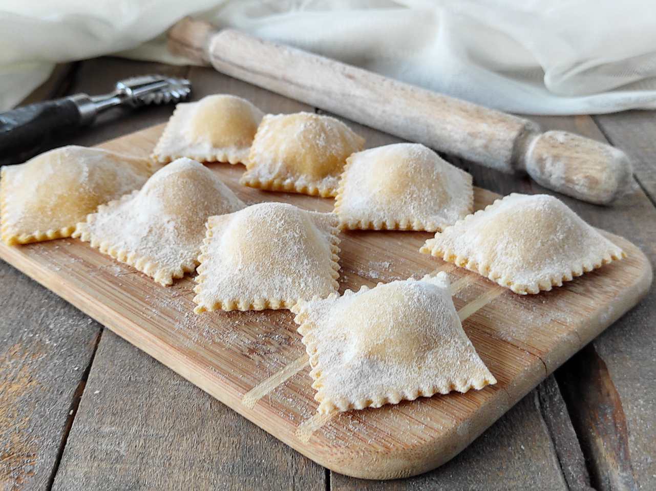
[[[566,131],[530,134],[522,141],[518,168],[538,184],[559,193],[609,205],[630,189],[626,153]]]

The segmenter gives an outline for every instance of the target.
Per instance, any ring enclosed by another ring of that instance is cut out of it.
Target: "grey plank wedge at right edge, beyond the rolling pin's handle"
[[[625,111],[594,117],[605,137],[631,157],[633,172],[656,204],[656,111]]]

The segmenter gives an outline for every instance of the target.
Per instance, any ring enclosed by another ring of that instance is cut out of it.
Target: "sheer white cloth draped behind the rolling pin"
[[[56,62],[184,63],[164,33],[186,15],[506,111],[656,109],[653,0],[3,0],[0,109]]]

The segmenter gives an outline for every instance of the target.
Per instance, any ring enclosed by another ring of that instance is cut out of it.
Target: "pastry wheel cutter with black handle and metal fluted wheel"
[[[0,165],[30,159],[55,144],[57,137],[91,125],[110,108],[180,102],[191,91],[186,79],[142,75],[117,82],[109,94],[74,94],[0,113]]]

